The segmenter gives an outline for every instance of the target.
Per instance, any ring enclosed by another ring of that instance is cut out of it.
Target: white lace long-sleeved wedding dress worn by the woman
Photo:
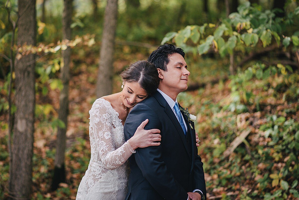
[[[91,158],[76,199],[123,200],[128,182],[126,160],[135,151],[125,142],[123,124],[109,101],[97,99],[89,114]]]

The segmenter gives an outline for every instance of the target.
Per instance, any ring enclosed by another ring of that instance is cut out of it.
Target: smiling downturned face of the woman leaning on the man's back
[[[124,106],[131,108],[137,103],[147,98],[147,93],[139,83],[124,81],[123,91],[121,93],[121,99]]]

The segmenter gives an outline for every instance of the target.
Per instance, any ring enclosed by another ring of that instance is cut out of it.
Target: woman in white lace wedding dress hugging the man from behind
[[[131,63],[120,76],[123,90],[97,99],[89,110],[91,158],[80,182],[77,200],[125,199],[129,173],[126,160],[137,148],[160,145],[158,129],[144,130],[148,119],[128,141],[125,142],[123,134],[129,111],[156,92],[159,84],[157,69],[148,61],[140,60]],[[198,137],[196,140],[199,141]]]

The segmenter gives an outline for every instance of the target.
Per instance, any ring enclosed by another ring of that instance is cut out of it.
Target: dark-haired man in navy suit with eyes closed
[[[185,53],[171,44],[161,45],[148,61],[157,67],[158,91],[138,103],[124,126],[125,139],[131,138],[145,119],[144,129],[161,131],[161,145],[136,149],[129,158],[126,200],[205,199],[203,163],[197,155],[194,123],[180,111],[176,97],[187,90]],[[191,126],[193,128],[191,128]]]

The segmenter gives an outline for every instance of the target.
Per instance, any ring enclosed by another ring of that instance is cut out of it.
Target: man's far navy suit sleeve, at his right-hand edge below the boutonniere
[[[192,122],[193,123],[193,122]],[[194,123],[192,124],[194,127]],[[204,195],[207,195],[206,185],[205,185],[205,173],[203,169],[202,158],[198,155],[198,149],[195,145],[195,157],[194,157],[194,167],[193,167],[193,185],[195,186],[194,189],[201,190]]]

